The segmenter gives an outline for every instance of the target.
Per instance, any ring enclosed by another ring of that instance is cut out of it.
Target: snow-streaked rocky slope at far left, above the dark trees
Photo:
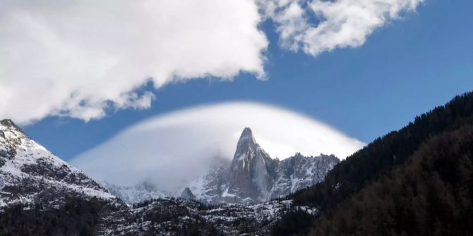
[[[112,194],[30,139],[11,120],[0,121],[0,206],[66,197],[114,200]]]

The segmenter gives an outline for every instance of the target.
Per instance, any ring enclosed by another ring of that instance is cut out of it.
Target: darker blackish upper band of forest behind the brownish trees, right
[[[390,132],[340,162],[323,182],[292,195],[298,205],[328,211],[388,170],[405,163],[429,137],[473,124],[473,93],[457,96],[445,106],[417,116],[399,131]]]

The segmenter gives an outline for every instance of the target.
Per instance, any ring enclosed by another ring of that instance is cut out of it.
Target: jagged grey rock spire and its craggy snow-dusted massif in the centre
[[[219,166],[189,186],[197,199],[208,203],[252,204],[283,197],[323,180],[340,160],[321,154],[271,159],[250,128],[241,133],[232,164]]]

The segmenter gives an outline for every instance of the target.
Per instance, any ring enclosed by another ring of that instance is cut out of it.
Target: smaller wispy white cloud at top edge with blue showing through
[[[357,47],[389,20],[415,11],[424,0],[257,0],[275,21],[282,46],[317,56],[336,48]],[[317,18],[319,23],[313,23]]]

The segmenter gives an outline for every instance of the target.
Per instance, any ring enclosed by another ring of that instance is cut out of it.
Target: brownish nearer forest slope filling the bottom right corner
[[[405,165],[316,221],[311,235],[472,235],[473,126],[429,139]]]

